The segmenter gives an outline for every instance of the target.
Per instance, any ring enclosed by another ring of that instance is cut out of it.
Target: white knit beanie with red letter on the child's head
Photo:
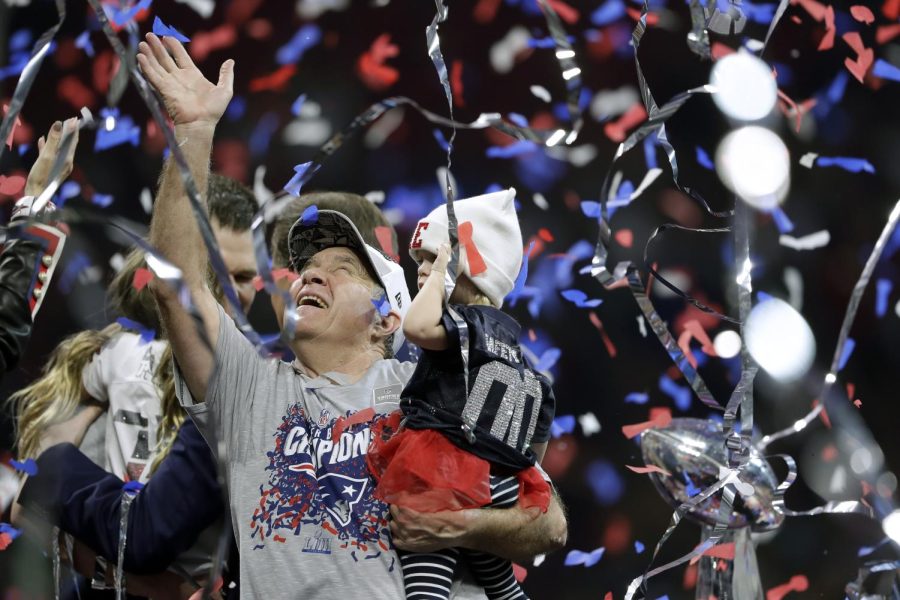
[[[516,190],[509,188],[453,202],[460,238],[461,273],[497,308],[503,306],[503,298],[512,291],[522,267],[522,231],[515,199]],[[467,235],[467,231],[471,234]],[[469,239],[471,243],[467,243]],[[437,255],[441,244],[449,240],[447,205],[442,204],[419,221],[409,244],[409,255],[416,263],[421,263],[420,252]],[[477,256],[469,256],[472,250]],[[472,275],[470,262],[475,266],[475,275]],[[480,270],[481,263],[484,270]]]

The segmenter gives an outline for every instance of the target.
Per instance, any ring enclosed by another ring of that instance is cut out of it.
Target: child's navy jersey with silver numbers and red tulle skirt
[[[525,364],[515,319],[489,306],[452,308],[468,326],[468,393],[459,332],[445,311],[449,345],[423,351],[402,393],[403,428],[373,436],[375,496],[420,512],[476,508],[491,502],[491,474],[515,474],[519,505],[546,511],[550,487],[530,445],[550,438],[553,390]],[[475,424],[474,441],[466,421]]]

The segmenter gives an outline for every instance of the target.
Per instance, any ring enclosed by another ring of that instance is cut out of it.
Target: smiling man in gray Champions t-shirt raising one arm
[[[213,84],[181,44],[164,42],[148,34],[138,62],[165,102],[197,188],[205,189],[234,63]],[[463,546],[520,561],[563,544],[565,519],[555,502],[540,516],[516,508],[391,515],[372,497],[364,456],[370,430],[396,408],[412,372],[391,358],[409,303],[403,275],[340,213],[321,211],[289,237],[292,267],[301,269],[290,288],[292,364],[261,358],[216,303],[180,178],[171,160],[164,167],[151,241],[181,269],[213,355],[176,294],[152,285],[180,366],[182,402],[195,420],[209,421],[204,430],[227,452],[242,593],[401,598],[391,538],[409,550]],[[469,588],[457,597],[478,596]]]

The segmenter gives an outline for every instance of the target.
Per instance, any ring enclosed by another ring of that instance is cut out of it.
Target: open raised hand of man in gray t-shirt
[[[222,63],[219,81],[214,84],[194,65],[181,42],[172,37],[160,40],[152,33],[139,44],[137,60],[176,126],[215,128],[231,101],[233,60]]]

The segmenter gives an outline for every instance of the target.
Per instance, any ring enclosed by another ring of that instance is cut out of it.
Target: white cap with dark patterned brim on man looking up
[[[403,269],[368,245],[356,225],[343,213],[335,210],[320,210],[313,222],[304,223],[297,219],[288,232],[291,268],[297,273],[303,270],[307,261],[317,252],[326,248],[350,248],[359,255],[369,270],[378,277],[378,283],[387,294],[391,309],[400,313],[401,320],[409,309],[409,288]],[[403,346],[403,329],[394,332],[394,353]]]

